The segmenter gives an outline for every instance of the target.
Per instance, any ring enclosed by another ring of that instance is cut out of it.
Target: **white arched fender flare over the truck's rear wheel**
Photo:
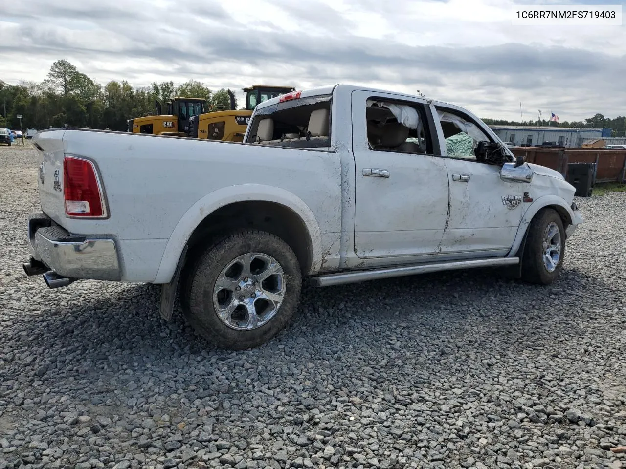
[[[274,186],[239,184],[217,189],[193,204],[180,218],[172,231],[153,283],[169,283],[185,244],[200,222],[220,207],[242,201],[265,201],[284,205],[297,213],[304,222],[312,243],[312,263],[309,273],[319,271],[322,265],[322,234],[315,215],[298,196]]]

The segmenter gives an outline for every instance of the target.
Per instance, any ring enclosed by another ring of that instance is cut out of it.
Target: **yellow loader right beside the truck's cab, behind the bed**
[[[257,104],[282,94],[292,93],[292,86],[269,86],[255,84],[245,91],[245,108],[235,110],[235,95],[228,90],[230,110],[212,111],[189,119],[188,133],[193,138],[210,140],[244,141],[245,129]]]

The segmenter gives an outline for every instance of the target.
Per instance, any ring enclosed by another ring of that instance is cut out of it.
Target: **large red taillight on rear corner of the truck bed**
[[[88,159],[63,158],[63,198],[65,214],[102,218],[106,216],[104,194],[98,183],[95,165]]]

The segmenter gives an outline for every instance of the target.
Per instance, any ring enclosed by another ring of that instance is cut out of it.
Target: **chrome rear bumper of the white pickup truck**
[[[115,241],[71,235],[43,213],[28,217],[31,256],[60,276],[74,279],[120,281]]]

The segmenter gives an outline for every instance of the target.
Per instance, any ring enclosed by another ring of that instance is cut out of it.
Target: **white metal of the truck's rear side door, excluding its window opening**
[[[424,260],[439,251],[448,214],[448,173],[443,158],[374,151],[367,144],[366,99],[352,93],[352,150],[356,164],[354,239],[366,265],[398,257]],[[377,93],[378,98],[387,98]],[[391,95],[388,99],[398,99]],[[417,101],[421,103],[421,101]],[[424,101],[425,103],[425,101]]]

